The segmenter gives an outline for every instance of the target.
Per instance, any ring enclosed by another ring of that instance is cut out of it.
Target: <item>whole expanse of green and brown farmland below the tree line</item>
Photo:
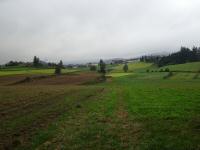
[[[200,149],[199,65],[167,67],[191,71],[184,65],[193,72],[168,78],[153,64],[130,63],[127,73],[110,66],[106,82],[80,71],[20,83],[31,71],[7,70],[0,77],[0,149]]]

